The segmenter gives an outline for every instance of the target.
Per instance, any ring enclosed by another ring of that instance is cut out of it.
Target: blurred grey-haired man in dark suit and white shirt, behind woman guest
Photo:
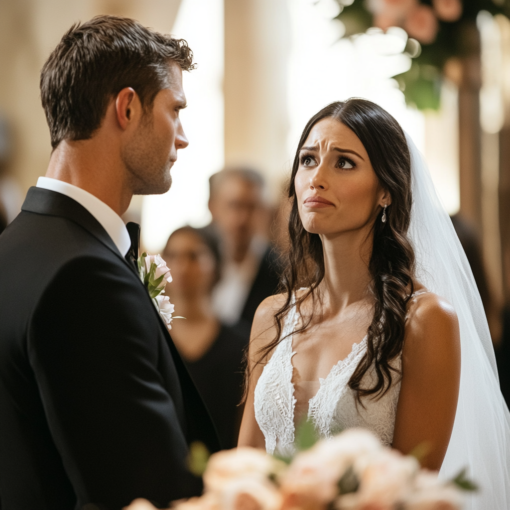
[[[209,187],[213,221],[207,228],[218,232],[223,256],[214,310],[249,336],[257,307],[276,293],[279,281],[277,254],[258,234],[267,212],[264,179],[248,168],[227,168],[211,176]]]

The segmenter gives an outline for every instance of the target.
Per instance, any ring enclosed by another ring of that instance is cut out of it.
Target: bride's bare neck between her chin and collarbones
[[[324,302],[341,309],[366,299],[372,279],[369,271],[372,237],[364,231],[321,236],[324,278],[320,284]]]

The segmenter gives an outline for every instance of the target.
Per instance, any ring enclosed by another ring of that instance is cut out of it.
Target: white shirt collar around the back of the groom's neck
[[[78,186],[51,177],[39,177],[37,187],[56,191],[76,200],[101,224],[117,246],[122,257],[125,257],[125,254],[131,248],[131,239],[121,217],[105,202]]]

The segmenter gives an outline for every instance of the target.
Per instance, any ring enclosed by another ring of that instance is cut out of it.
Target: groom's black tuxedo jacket
[[[218,449],[135,268],[78,202],[31,188],[0,236],[3,510],[197,495],[193,440]]]

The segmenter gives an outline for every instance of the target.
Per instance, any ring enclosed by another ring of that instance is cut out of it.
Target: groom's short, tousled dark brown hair
[[[112,97],[132,87],[144,108],[167,87],[168,64],[193,69],[186,41],[173,39],[120,16],[96,16],[74,24],[41,71],[41,101],[52,146],[90,138]]]

